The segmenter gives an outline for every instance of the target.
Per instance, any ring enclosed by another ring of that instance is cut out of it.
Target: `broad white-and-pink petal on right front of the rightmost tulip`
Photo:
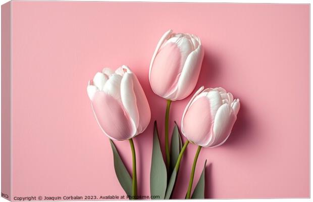
[[[222,105],[217,111],[214,119],[214,142],[205,146],[215,147],[223,144],[229,137],[236,119],[237,117],[230,105]]]

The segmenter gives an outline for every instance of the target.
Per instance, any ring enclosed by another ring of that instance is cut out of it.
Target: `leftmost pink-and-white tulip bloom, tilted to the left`
[[[104,68],[89,81],[87,93],[95,118],[109,138],[130,139],[142,133],[151,118],[150,107],[136,75],[122,66]]]

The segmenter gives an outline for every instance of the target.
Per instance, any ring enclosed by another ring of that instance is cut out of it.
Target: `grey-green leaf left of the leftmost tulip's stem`
[[[115,174],[123,187],[124,191],[127,195],[132,195],[132,178],[129,175],[113,141],[110,139],[112,151],[113,151],[113,158],[114,158],[114,170]]]

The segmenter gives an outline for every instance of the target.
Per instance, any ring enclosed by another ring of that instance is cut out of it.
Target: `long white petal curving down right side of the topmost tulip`
[[[187,97],[197,84],[204,56],[202,45],[200,44],[195,51],[187,57],[183,70],[178,80],[178,89],[172,100]]]

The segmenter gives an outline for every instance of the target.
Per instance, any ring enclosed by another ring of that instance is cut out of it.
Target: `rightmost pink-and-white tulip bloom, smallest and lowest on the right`
[[[223,144],[237,119],[239,99],[223,88],[203,86],[190,99],[182,117],[182,133],[203,147]]]

